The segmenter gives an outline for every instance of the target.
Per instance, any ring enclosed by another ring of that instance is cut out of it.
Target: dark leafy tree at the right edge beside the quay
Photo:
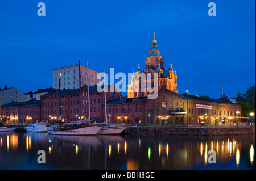
[[[238,92],[237,104],[242,106],[242,116],[249,117],[250,113],[255,113],[255,86],[250,86],[245,94]]]

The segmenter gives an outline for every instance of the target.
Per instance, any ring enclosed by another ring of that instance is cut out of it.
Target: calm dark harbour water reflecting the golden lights
[[[46,163],[38,163],[38,150]],[[208,151],[216,163],[208,163]],[[0,132],[0,169],[255,169],[255,135],[55,136]]]

